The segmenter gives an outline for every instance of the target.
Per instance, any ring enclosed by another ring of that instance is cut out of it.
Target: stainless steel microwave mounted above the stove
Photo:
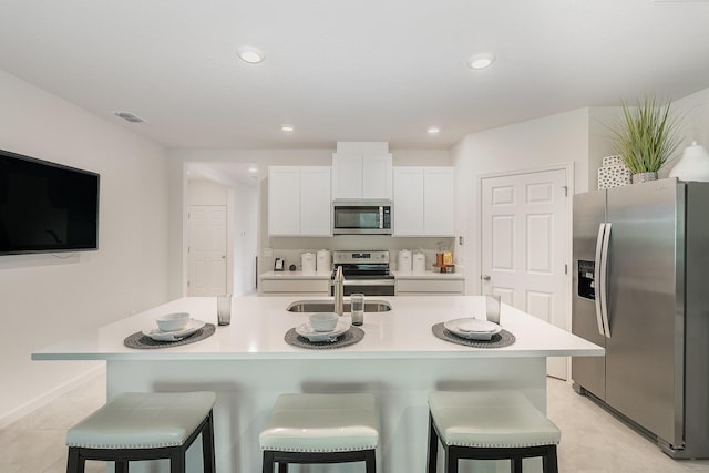
[[[391,235],[391,200],[332,203],[332,235]]]

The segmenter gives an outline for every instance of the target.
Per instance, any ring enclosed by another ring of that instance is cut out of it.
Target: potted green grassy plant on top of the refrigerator
[[[613,130],[616,152],[633,176],[633,183],[657,179],[657,173],[677,150],[679,120],[670,114],[671,101],[657,104],[646,96],[637,107],[623,103],[620,128]]]

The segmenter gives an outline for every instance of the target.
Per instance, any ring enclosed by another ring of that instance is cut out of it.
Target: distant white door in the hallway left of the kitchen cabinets
[[[226,294],[226,206],[189,207],[189,296]]]

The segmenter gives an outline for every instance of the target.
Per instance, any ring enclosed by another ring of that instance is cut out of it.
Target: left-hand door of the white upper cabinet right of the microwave
[[[423,235],[423,168],[397,167],[394,175],[394,236]]]

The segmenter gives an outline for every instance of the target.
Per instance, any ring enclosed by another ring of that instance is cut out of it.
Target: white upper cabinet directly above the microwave
[[[338,143],[332,154],[332,198],[392,197],[392,156],[387,143]]]

